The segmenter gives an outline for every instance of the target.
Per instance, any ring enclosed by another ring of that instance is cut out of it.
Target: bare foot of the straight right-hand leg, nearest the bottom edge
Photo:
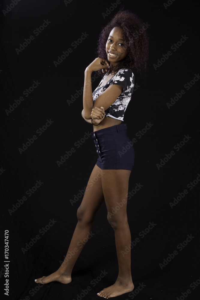
[[[122,285],[119,281],[116,281],[113,285],[102,289],[102,291],[97,293],[97,295],[108,299],[111,297],[117,297],[125,293],[131,292],[133,289],[133,283],[130,283],[128,285]]]

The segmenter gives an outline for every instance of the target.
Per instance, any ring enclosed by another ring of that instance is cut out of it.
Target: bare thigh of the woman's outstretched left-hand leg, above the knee
[[[79,214],[84,214],[85,217],[95,215],[104,201],[101,172],[102,170],[95,165],[88,180],[81,205],[78,208]]]

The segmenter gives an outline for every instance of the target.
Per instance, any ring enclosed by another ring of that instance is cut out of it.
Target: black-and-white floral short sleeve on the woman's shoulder
[[[119,70],[110,81],[110,85],[121,85],[124,89],[123,92],[131,88],[134,84],[134,75],[130,69]]]

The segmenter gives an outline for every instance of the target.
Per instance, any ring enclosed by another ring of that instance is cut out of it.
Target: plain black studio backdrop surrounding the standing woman
[[[114,232],[103,204],[72,282],[34,283],[64,259],[97,159],[92,127],[81,117],[81,88],[100,30],[122,6],[146,24],[150,45],[146,77],[134,71],[124,120],[135,138],[127,206],[135,294],[118,298],[199,299],[199,1],[186,0],[1,1],[5,299],[98,299],[96,292],[116,279]],[[92,76],[94,89],[100,78]]]

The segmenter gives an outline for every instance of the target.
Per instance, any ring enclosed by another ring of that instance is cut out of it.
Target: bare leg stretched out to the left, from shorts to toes
[[[88,181],[81,205],[77,211],[78,223],[74,230],[64,262],[57,271],[49,276],[38,278],[36,283],[45,284],[52,281],[59,281],[66,284],[71,282],[73,266],[85,243],[92,236],[91,229],[94,223],[94,217],[104,201],[101,172],[102,170],[95,165]]]

